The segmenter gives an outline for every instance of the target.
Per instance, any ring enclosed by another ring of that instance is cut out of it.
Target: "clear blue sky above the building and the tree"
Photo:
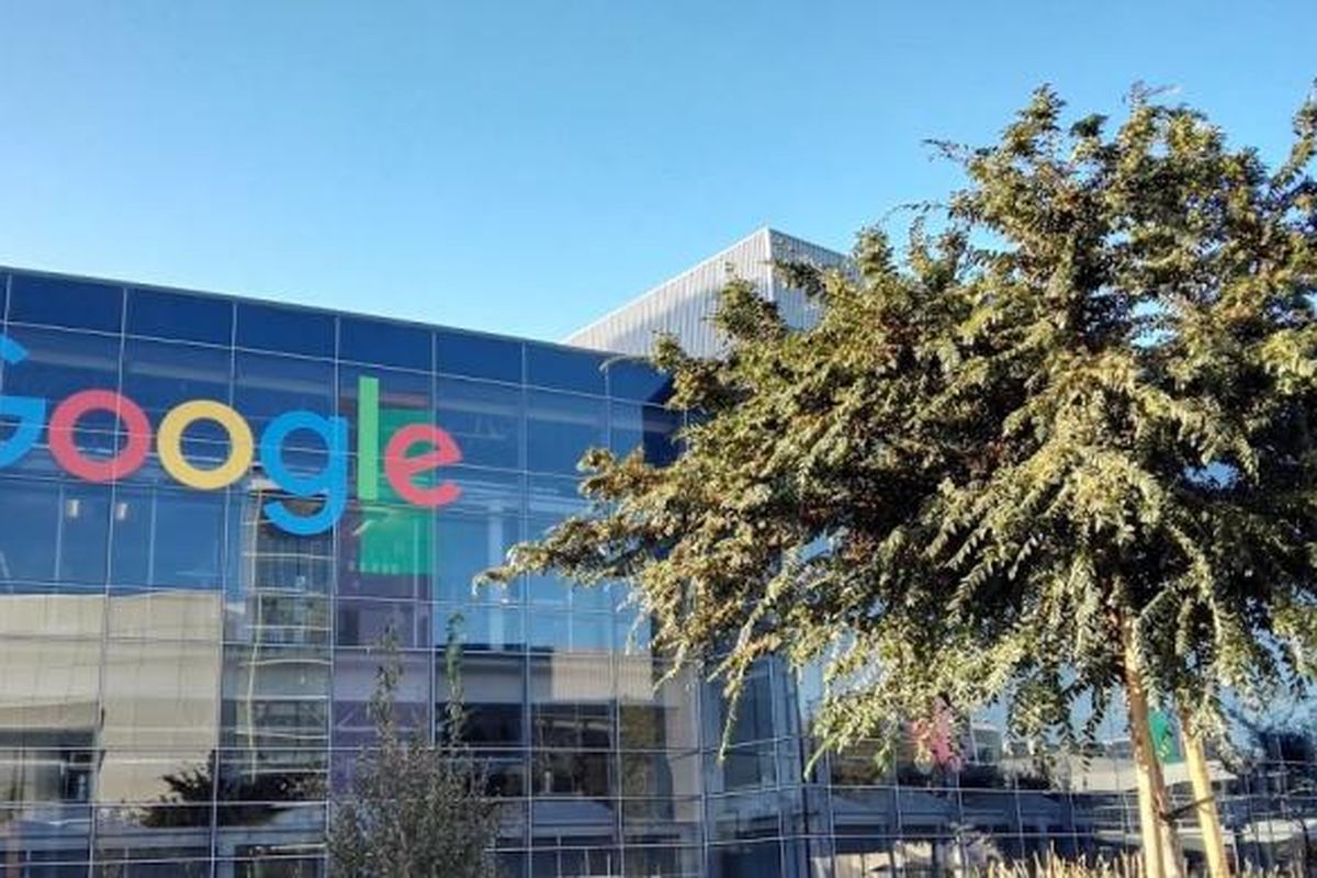
[[[0,41],[0,262],[561,338],[761,225],[849,247],[1042,82],[1279,155],[1317,0],[12,0]]]

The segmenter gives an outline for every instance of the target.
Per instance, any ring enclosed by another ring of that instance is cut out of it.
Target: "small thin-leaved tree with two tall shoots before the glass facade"
[[[444,728],[431,742],[396,719],[402,662],[385,645],[370,700],[374,744],[354,766],[350,796],[335,806],[329,865],[336,878],[493,878],[499,813],[485,775],[462,744],[461,650],[449,627],[450,688]]]

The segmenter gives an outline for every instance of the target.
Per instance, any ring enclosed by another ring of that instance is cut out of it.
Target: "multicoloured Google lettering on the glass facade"
[[[22,345],[0,334],[0,361],[16,366],[26,358]],[[357,394],[357,498],[370,502],[379,499],[379,380],[369,376],[358,379]],[[0,442],[0,469],[32,452],[42,429],[55,462],[86,482],[117,482],[146,463],[153,441],[151,423],[141,405],[122,394],[79,391],[55,405],[49,423],[47,408],[49,400],[38,396],[0,395],[0,416],[17,420],[9,437]],[[74,441],[79,421],[94,412],[109,412],[124,426],[126,441],[112,457],[88,455]],[[228,436],[228,457],[219,465],[198,466],[183,454],[183,434],[199,421],[217,424]],[[320,473],[306,474],[287,465],[284,446],[288,437],[299,432],[315,436],[324,445],[328,462]],[[261,469],[283,492],[300,499],[324,499],[320,509],[309,515],[292,512],[282,500],[271,500],[263,507],[275,527],[309,536],[332,528],[348,505],[348,432],[344,417],[290,411],[270,421],[258,442],[246,419],[232,407],[211,399],[194,399],[165,415],[154,433],[154,442],[165,471],[198,491],[217,491],[233,484],[250,471],[259,454]],[[421,477],[461,459],[461,450],[448,432],[433,424],[408,424],[395,430],[385,444],[383,471],[389,484],[404,500],[435,508],[456,500],[461,488],[450,480],[429,484],[431,479]]]

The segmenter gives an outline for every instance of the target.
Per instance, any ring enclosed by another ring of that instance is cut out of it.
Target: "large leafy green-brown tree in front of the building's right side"
[[[1077,744],[1123,692],[1159,878],[1150,704],[1201,741],[1223,688],[1314,669],[1317,104],[1274,172],[1147,91],[1112,134],[1062,115],[1043,88],[996,145],[938,143],[968,183],[903,257],[868,229],[853,271],[784,266],[815,326],[731,283],[724,358],[657,346],[699,412],[680,458],[589,453],[591,509],[490,575],[630,581],[734,700],[764,656],[822,663],[834,748],[943,695]]]

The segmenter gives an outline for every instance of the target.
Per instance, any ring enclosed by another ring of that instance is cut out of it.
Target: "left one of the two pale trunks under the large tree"
[[[1139,835],[1143,841],[1143,869],[1147,878],[1179,878],[1180,857],[1175,850],[1175,828],[1163,819],[1167,803],[1162,766],[1152,748],[1148,698],[1143,684],[1143,659],[1134,646],[1134,624],[1121,624],[1125,648],[1125,700],[1130,715],[1130,742],[1134,746],[1134,774],[1139,788]]]

